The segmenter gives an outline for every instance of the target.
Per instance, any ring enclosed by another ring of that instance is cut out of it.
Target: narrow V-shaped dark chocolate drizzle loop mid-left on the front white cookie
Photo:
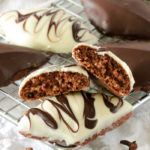
[[[60,95],[56,97],[58,102],[60,103],[56,103],[50,99],[48,99],[48,101],[56,108],[58,114],[59,114],[59,118],[66,124],[66,126],[73,132],[76,133],[79,130],[79,122],[76,119],[74,113],[72,112],[72,109],[70,108],[68,99],[65,95]],[[43,103],[42,103],[42,108],[43,108]],[[74,120],[77,124],[77,129],[74,130],[72,129],[72,127],[69,125],[69,123],[65,120],[65,118],[63,117],[63,115],[61,114],[61,111],[65,112],[70,118],[72,118],[72,120]]]

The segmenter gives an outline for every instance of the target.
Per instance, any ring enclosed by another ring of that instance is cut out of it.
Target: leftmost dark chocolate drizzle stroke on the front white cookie
[[[58,125],[57,125],[56,121],[54,120],[54,118],[49,113],[47,113],[45,111],[42,111],[42,110],[40,110],[38,108],[31,108],[26,113],[26,116],[30,120],[30,127],[31,127],[30,113],[32,113],[33,115],[40,116],[42,118],[42,120],[46,123],[46,125],[49,126],[50,128],[53,128],[53,129],[57,129],[58,128]]]

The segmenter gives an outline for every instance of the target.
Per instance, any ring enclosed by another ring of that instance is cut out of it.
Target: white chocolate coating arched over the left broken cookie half
[[[24,87],[24,85],[33,77],[39,76],[40,74],[47,73],[47,72],[54,72],[54,71],[62,71],[62,72],[77,72],[79,74],[85,75],[87,78],[89,78],[89,75],[87,71],[82,68],[81,66],[74,65],[74,66],[56,66],[56,65],[51,65],[42,69],[38,69],[37,71],[32,72],[29,74],[22,83],[20,84],[19,87],[19,93],[21,92],[21,89]]]

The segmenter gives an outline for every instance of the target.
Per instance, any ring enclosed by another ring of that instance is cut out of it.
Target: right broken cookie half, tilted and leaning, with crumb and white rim
[[[132,90],[134,78],[130,68],[112,52],[79,44],[73,49],[73,57],[113,94],[123,97]]]

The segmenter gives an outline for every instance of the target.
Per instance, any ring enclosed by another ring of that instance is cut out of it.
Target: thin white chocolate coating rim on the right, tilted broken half
[[[75,46],[75,48],[77,48],[79,46],[88,46],[88,47],[94,48],[96,50],[99,50],[101,48],[101,46],[95,46],[95,45],[86,44],[86,43],[78,44],[78,45]],[[103,55],[103,56],[104,55],[108,55],[108,56],[110,56],[116,62],[118,62],[118,64],[120,64],[123,67],[123,69],[126,71],[128,77],[129,77],[129,80],[130,80],[130,91],[132,91],[134,83],[135,83],[135,80],[134,80],[134,77],[133,77],[133,74],[131,72],[130,67],[124,61],[122,61],[119,57],[117,57],[114,53],[112,53],[111,51],[98,51],[96,53],[98,55]],[[72,57],[74,57],[74,53],[72,53]]]

